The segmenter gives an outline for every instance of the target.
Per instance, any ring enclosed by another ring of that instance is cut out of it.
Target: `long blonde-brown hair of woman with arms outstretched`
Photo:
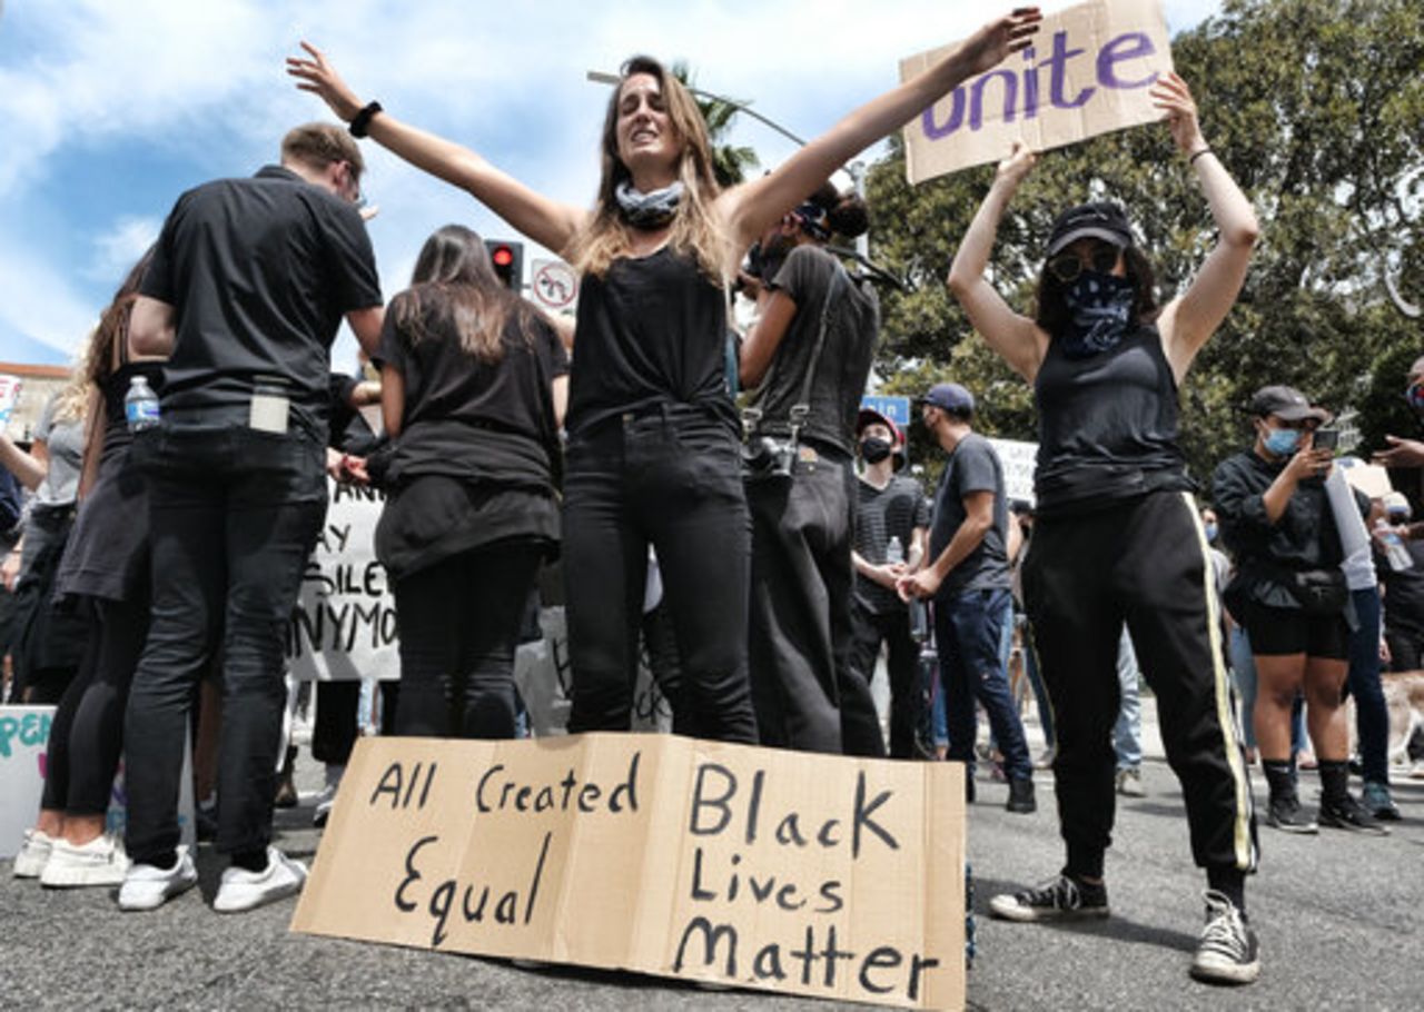
[[[682,182],[682,201],[672,219],[672,235],[668,246],[685,256],[692,256],[698,268],[718,285],[725,282],[731,239],[719,228],[712,211],[712,201],[721,192],[712,172],[712,144],[708,141],[706,122],[692,95],[676,77],[646,56],[635,56],[624,63],[622,81],[614,88],[604,117],[602,179],[598,184],[598,204],[592,218],[574,236],[568,248],[568,259],[580,273],[604,276],[608,268],[632,251],[632,228],[624,222],[614,196],[618,184],[631,179],[632,174],[618,157],[618,101],[624,84],[634,74],[649,74],[658,81],[668,118],[682,142],[678,161],[678,179]]]

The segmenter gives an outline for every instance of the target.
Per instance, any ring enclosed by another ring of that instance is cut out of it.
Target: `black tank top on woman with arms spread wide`
[[[664,246],[585,275],[570,376],[568,431],[621,414],[693,406],[736,431],[726,389],[726,295]]]

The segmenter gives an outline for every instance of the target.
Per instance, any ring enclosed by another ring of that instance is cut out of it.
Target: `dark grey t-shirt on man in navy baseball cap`
[[[970,492],[994,492],[994,525],[964,559],[950,569],[937,594],[948,599],[965,591],[1007,588],[1008,578],[1008,500],[1004,495],[1004,465],[994,447],[978,433],[970,433],[950,454],[934,492],[934,520],[930,525],[930,558],[940,554],[968,517],[964,498]]]

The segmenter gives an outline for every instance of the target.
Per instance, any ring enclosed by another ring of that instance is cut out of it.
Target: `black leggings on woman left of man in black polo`
[[[148,594],[131,602],[85,599],[88,638],[78,675],[50,724],[43,807],[103,816],[124,747],[124,707],[148,636]]]

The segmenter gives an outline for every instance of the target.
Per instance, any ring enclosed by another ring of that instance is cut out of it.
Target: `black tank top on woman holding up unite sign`
[[[1178,447],[1176,379],[1152,325],[1069,359],[1058,340],[1034,383],[1041,514],[1087,512],[1158,490],[1190,490]]]

